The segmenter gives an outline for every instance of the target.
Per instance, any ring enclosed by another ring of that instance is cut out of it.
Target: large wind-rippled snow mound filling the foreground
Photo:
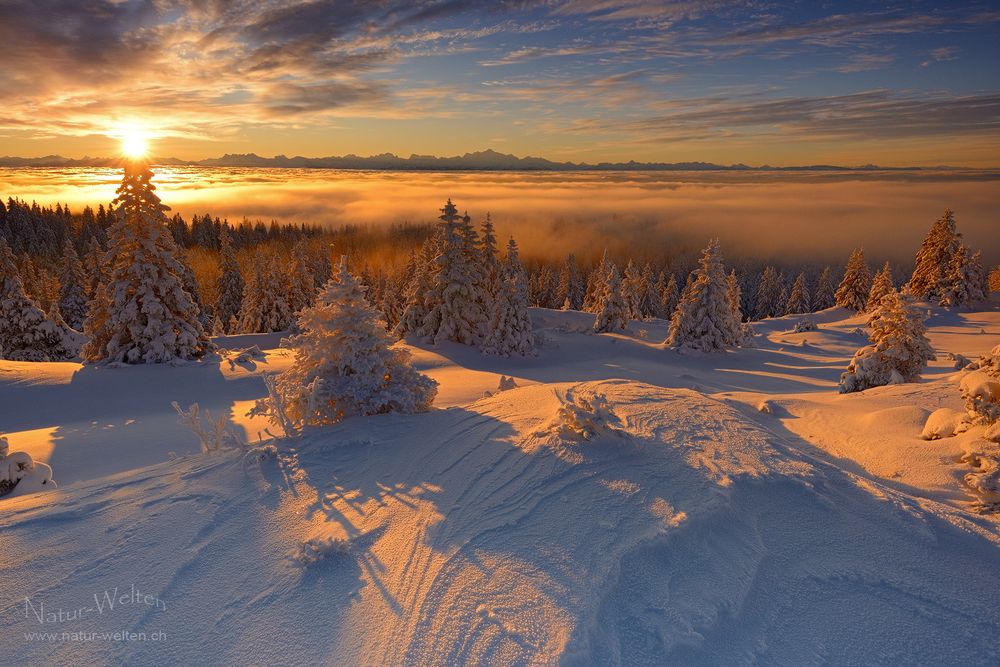
[[[552,428],[595,404],[613,429]],[[190,456],[7,501],[0,649],[10,664],[996,656],[988,535],[758,425],[773,419],[687,389],[539,384],[348,419],[254,466]],[[304,544],[350,548],[303,567]],[[131,585],[153,603],[26,615],[26,597],[54,612]],[[22,639],[125,628],[166,639]]]

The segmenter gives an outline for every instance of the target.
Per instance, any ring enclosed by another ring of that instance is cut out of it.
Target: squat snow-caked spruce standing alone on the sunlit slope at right
[[[854,354],[840,376],[840,393],[916,382],[934,350],[919,309],[893,290],[882,297],[868,318],[871,344]]]

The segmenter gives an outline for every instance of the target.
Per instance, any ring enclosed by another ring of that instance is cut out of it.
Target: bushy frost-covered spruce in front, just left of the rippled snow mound
[[[279,423],[287,419],[300,429],[345,417],[429,410],[437,382],[413,369],[409,352],[391,347],[381,320],[341,257],[316,303],[299,314],[302,333],[288,340],[294,362],[251,413]]]

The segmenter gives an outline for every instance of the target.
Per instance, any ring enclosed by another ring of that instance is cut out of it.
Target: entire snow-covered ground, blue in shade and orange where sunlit
[[[592,316],[534,311],[538,358],[416,349],[442,409],[347,420],[259,463],[195,453],[169,400],[255,434],[241,407],[281,351],[180,368],[0,362],[0,405],[14,406],[0,428],[12,449],[50,447],[36,458],[60,483],[0,500],[0,654],[994,664],[996,515],[969,511],[960,439],[919,439],[925,413],[961,407],[955,371],[942,358],[923,383],[838,395],[862,338],[845,315],[803,334],[769,320],[756,349],[690,356],[657,345],[663,323],[589,335]],[[995,310],[930,324],[939,351],[1000,342]],[[520,387],[483,398],[501,372]],[[608,411],[588,412],[599,395]],[[574,430],[588,418],[590,438]],[[95,609],[116,586],[125,602]],[[85,611],[40,623],[42,603]],[[25,635],[121,629],[147,636]]]

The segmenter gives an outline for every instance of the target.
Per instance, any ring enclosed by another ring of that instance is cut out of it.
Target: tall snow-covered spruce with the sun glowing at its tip
[[[126,164],[109,230],[108,310],[88,316],[88,361],[160,363],[198,359],[212,349],[198,306],[184,290],[185,267],[164,215],[169,209],[156,196],[152,176],[145,165]]]

